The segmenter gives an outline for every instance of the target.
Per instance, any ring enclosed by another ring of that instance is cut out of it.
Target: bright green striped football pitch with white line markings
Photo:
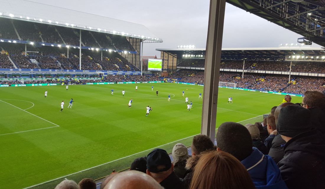
[[[97,179],[127,168],[153,148],[171,152],[178,142],[190,145],[201,131],[199,93],[204,98],[203,86],[175,83],[69,85],[68,91],[66,86],[1,87],[1,188],[54,188],[65,178]],[[233,104],[227,104],[230,96]],[[186,97],[193,103],[190,112]],[[216,127],[262,121],[283,97],[219,88]]]

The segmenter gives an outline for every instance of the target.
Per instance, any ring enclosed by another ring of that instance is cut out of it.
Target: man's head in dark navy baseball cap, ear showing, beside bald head
[[[174,169],[167,152],[156,148],[147,156],[147,174],[152,176],[158,183],[167,178]]]

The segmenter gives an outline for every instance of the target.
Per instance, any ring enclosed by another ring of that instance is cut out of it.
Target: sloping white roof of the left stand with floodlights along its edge
[[[77,3],[77,1],[76,1]],[[26,0],[0,0],[0,17],[162,42],[144,25]],[[72,25],[73,24],[73,25]],[[98,30],[99,28],[99,30]]]

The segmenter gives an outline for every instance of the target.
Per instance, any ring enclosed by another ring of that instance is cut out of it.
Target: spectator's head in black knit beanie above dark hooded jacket
[[[280,110],[277,132],[288,142],[292,137],[311,129],[310,117],[310,111],[304,107],[286,106]]]

